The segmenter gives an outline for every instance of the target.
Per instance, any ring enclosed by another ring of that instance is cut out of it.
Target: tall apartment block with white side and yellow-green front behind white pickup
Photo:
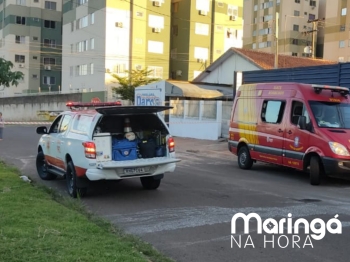
[[[112,74],[133,69],[167,79],[170,7],[170,0],[64,0],[62,90],[110,90]]]

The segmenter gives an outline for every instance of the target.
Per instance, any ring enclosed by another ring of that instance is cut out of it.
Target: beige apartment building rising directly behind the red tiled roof
[[[318,23],[311,21],[323,19],[319,6],[320,0],[245,0],[243,47],[273,53],[278,38],[279,54],[318,58]]]

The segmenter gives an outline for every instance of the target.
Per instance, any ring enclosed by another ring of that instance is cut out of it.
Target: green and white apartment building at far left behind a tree
[[[0,0],[0,56],[24,73],[17,87],[0,96],[59,91],[62,1]]]

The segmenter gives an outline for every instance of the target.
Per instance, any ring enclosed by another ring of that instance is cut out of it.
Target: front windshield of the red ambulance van
[[[350,104],[310,101],[319,127],[350,129]]]

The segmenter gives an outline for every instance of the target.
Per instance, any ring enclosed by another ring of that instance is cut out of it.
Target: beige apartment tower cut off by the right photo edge
[[[323,57],[328,60],[350,62],[350,1],[326,0]]]

